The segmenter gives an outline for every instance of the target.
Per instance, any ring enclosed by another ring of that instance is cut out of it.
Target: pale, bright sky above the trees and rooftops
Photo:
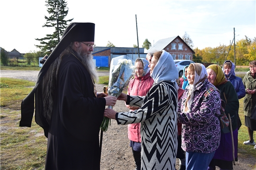
[[[52,34],[43,28],[46,0],[2,0],[0,3],[0,47],[20,53],[39,51],[35,38]],[[96,46],[112,42],[116,47],[137,44],[147,38],[152,45],[160,39],[185,32],[194,47],[217,47],[256,37],[256,0],[66,0],[66,20],[95,23]]]

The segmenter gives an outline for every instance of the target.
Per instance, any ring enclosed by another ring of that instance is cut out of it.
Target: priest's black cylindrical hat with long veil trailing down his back
[[[37,89],[37,86],[39,88],[42,88],[42,80],[44,76],[49,74],[48,69],[51,67],[51,69],[57,69],[53,68],[55,67],[56,59],[59,59],[59,55],[66,49],[68,45],[70,45],[71,42],[94,42],[94,32],[95,32],[95,24],[93,23],[71,23],[64,31],[61,41],[56,45],[55,49],[52,51],[52,53],[49,55],[48,59],[46,59],[46,62],[42,66],[42,68],[39,71],[39,74],[37,76],[37,83],[35,87],[32,89],[32,91],[23,99],[21,102],[21,120],[19,122],[20,127],[31,127],[31,122],[34,114],[34,96],[35,93],[37,96],[41,96],[42,89]],[[49,80],[50,81],[50,80]],[[54,84],[49,83],[49,84]],[[49,89],[48,89],[49,90]],[[45,104],[45,103],[44,103]],[[42,105],[42,104],[40,104]],[[43,106],[40,106],[43,107]],[[48,124],[51,116],[46,115],[46,111],[41,111],[39,106],[37,106],[37,98],[36,98],[36,122],[38,125],[44,128],[45,135],[47,137],[47,131],[48,131]],[[43,108],[42,108],[43,109]],[[37,113],[40,112],[40,113]],[[47,121],[47,122],[45,122]]]

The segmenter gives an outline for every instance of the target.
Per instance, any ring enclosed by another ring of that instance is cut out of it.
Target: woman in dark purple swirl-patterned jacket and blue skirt
[[[220,141],[219,91],[208,82],[202,64],[190,64],[187,77],[189,86],[178,102],[178,121],[183,124],[182,148],[186,151],[186,169],[206,170]]]

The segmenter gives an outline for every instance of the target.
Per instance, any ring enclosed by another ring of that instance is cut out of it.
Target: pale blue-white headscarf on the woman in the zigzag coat
[[[158,59],[155,68],[151,73],[151,77],[156,83],[162,80],[174,82],[176,89],[179,89],[179,86],[176,83],[176,79],[179,78],[178,70],[175,66],[174,59],[169,52],[163,50],[162,55]]]

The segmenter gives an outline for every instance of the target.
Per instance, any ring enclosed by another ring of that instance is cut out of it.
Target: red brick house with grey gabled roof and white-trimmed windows
[[[146,53],[162,50],[169,52],[173,56],[173,59],[192,60],[193,54],[195,53],[179,35],[158,40]]]

